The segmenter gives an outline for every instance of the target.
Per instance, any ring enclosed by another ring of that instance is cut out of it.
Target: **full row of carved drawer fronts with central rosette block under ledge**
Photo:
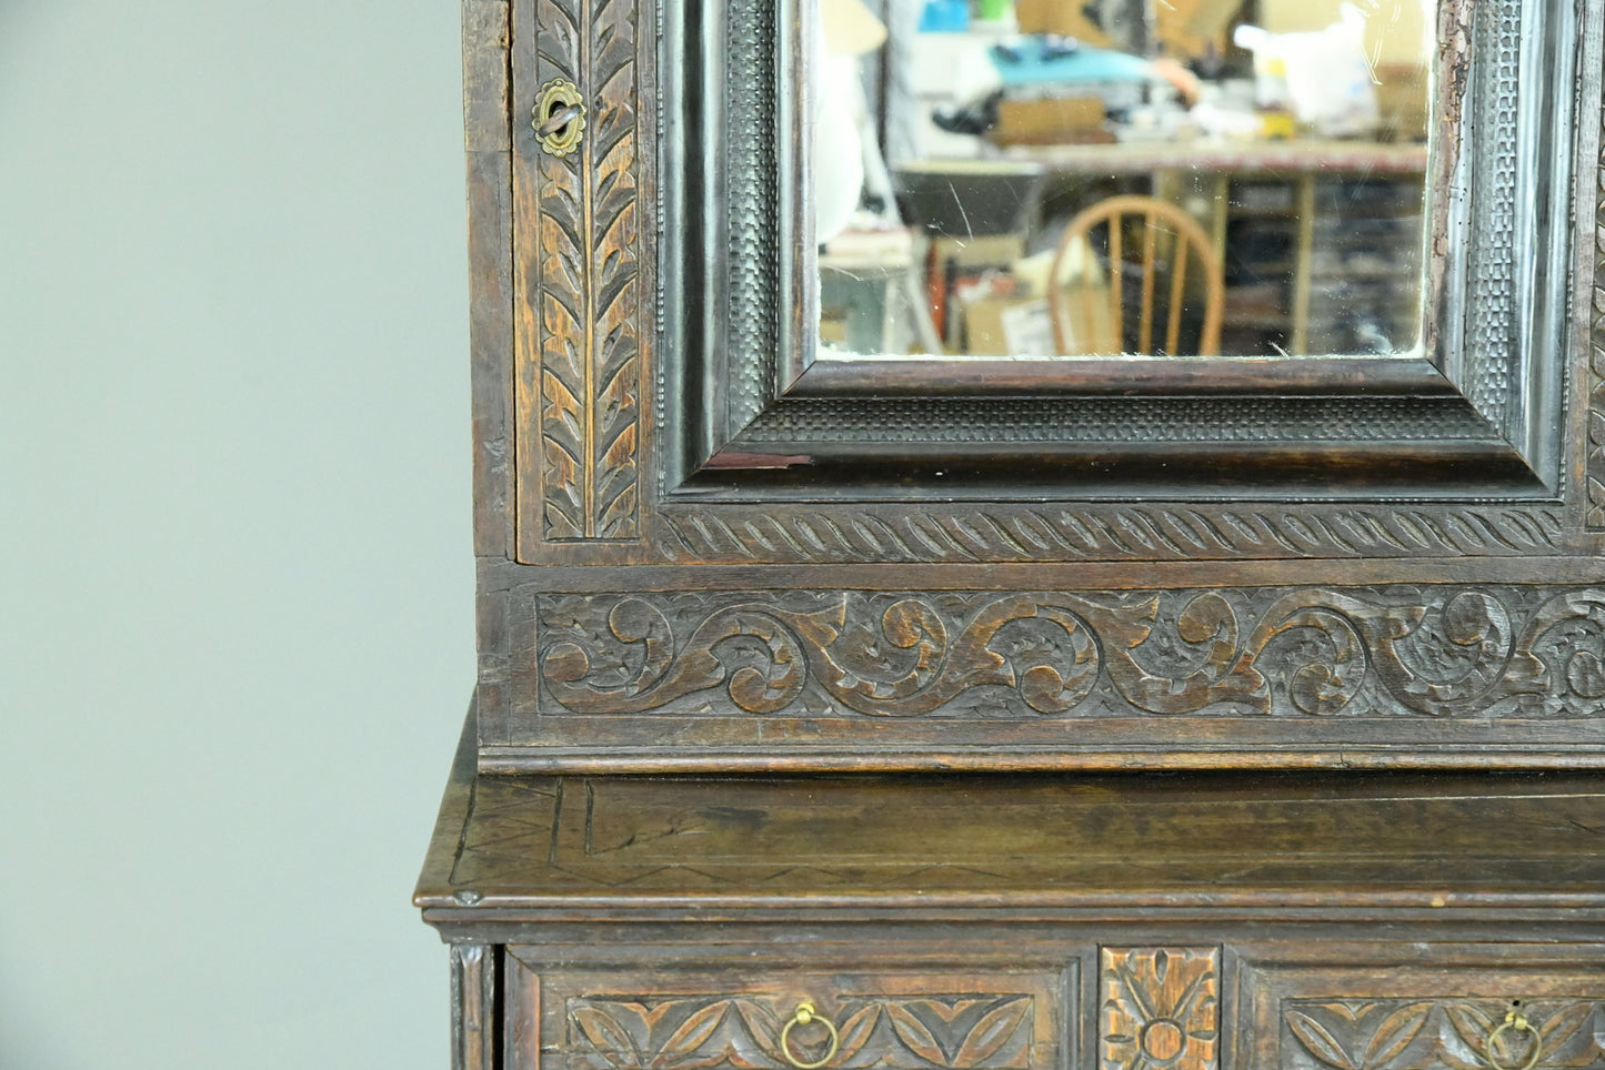
[[[1046,943],[1046,942],[1045,942]],[[1605,1070],[1605,946],[1059,945],[1018,969],[507,948],[517,1070]],[[867,953],[863,958],[878,959]]]

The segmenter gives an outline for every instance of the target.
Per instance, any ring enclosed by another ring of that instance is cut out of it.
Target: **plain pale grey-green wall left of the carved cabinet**
[[[0,1067],[445,1067],[459,8],[0,0]]]

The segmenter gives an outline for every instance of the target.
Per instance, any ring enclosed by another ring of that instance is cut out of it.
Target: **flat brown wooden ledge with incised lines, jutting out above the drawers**
[[[477,775],[472,748],[462,759],[416,897],[437,922],[1605,918],[1592,775],[684,780]]]

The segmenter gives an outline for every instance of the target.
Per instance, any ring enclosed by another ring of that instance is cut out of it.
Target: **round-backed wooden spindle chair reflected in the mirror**
[[[1099,231],[1104,231],[1104,241]],[[1107,258],[1104,260],[1104,253]],[[1082,257],[1082,263],[1074,263]],[[1093,261],[1107,265],[1104,279]],[[1193,265],[1197,261],[1197,266]],[[1067,268],[1080,268],[1064,286]],[[1189,278],[1202,282],[1202,298],[1188,289]],[[1127,286],[1138,298],[1127,305]],[[1154,347],[1156,292],[1164,297],[1164,348]],[[1156,197],[1109,197],[1069,221],[1059,239],[1048,276],[1048,314],[1061,356],[1114,355],[1127,351],[1135,338],[1136,353],[1178,356],[1183,342],[1183,308],[1202,306],[1197,355],[1220,351],[1220,321],[1226,305],[1226,282],[1209,236],[1176,205]],[[1128,324],[1135,313],[1136,322]]]

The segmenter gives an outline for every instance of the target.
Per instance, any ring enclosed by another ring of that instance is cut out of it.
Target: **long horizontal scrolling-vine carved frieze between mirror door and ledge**
[[[1605,590],[538,595],[547,707],[865,717],[1587,715]],[[732,712],[733,712],[732,711]]]

